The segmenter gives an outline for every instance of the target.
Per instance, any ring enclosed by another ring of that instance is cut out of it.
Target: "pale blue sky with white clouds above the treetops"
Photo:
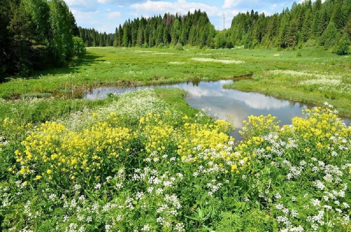
[[[72,10],[78,26],[92,28],[100,32],[112,33],[119,24],[130,18],[141,15],[149,17],[165,12],[187,13],[195,9],[206,11],[216,29],[223,29],[223,13],[225,27],[229,28],[233,16],[239,12],[264,12],[266,15],[281,12],[282,7],[292,5],[290,0],[65,0]],[[299,2],[299,1],[297,1]]]

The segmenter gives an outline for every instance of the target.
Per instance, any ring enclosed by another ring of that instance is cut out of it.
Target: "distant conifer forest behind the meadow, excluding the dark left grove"
[[[87,46],[162,47],[180,43],[200,48],[288,48],[307,43],[328,49],[341,39],[350,43],[351,1],[294,2],[291,9],[270,16],[254,10],[239,13],[231,27],[223,31],[216,31],[206,12],[200,10],[186,15],[168,13],[163,17],[128,19],[116,28],[115,34],[85,28],[79,31]]]

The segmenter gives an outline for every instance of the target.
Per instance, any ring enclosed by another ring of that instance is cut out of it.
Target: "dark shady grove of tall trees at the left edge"
[[[79,30],[63,0],[2,0],[0,80],[66,64],[85,52],[81,39],[74,36]]]

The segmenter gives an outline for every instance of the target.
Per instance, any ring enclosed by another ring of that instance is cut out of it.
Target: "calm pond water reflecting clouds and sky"
[[[109,93],[122,93],[128,90],[144,88],[179,88],[188,92],[185,100],[197,109],[211,108],[208,114],[218,114],[218,118],[229,120],[236,130],[231,135],[240,140],[238,131],[243,126],[243,120],[253,115],[272,114],[280,120],[280,126],[291,124],[293,117],[302,117],[302,110],[312,108],[313,105],[296,101],[283,100],[261,93],[243,92],[239,90],[224,89],[224,84],[231,84],[234,80],[219,81],[187,81],[180,84],[157,85],[144,87],[106,87],[96,88],[84,93],[83,98],[88,100],[104,99]],[[342,118],[346,125],[350,125],[350,118]]]

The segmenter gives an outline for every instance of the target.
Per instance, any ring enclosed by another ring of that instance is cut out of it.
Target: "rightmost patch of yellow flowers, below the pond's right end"
[[[318,151],[323,156],[330,153],[333,144],[342,145],[350,138],[351,128],[345,127],[330,108],[317,107],[304,110],[303,113],[305,118],[295,117],[291,125],[282,128],[271,115],[250,116],[249,121],[244,121],[241,132],[246,139],[236,146],[236,151],[244,157],[256,157],[258,148],[269,153],[274,144],[267,145],[263,135],[273,134],[278,140],[284,140],[286,147],[294,144],[294,147],[302,148],[305,153]]]

